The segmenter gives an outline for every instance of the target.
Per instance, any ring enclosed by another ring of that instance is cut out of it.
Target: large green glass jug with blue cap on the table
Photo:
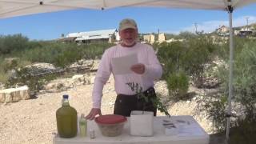
[[[78,113],[70,106],[68,98],[68,95],[63,95],[62,107],[56,111],[58,135],[61,138],[72,138],[78,133]]]

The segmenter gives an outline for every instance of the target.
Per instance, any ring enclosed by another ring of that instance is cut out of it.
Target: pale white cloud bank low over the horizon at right
[[[237,27],[237,26],[246,26],[247,22],[246,22],[246,18],[248,18],[248,24],[250,25],[251,23],[255,23],[256,22],[256,17],[255,16],[242,16],[239,18],[234,18],[233,19],[233,26]],[[200,22],[197,23],[196,25],[193,24],[191,26],[187,26],[182,28],[181,30],[166,30],[166,33],[171,33],[171,34],[179,34],[181,31],[190,31],[192,33],[195,32],[195,26],[197,26],[197,30],[198,31],[204,31],[205,33],[208,32],[213,32],[214,30],[218,29],[219,26],[229,26],[229,21],[207,21],[207,22]]]

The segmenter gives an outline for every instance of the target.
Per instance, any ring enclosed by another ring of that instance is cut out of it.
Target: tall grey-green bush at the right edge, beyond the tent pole
[[[236,101],[244,106],[256,104],[256,42],[246,42],[234,61],[234,90]],[[255,106],[254,106],[255,107]],[[256,108],[256,107],[255,107]]]

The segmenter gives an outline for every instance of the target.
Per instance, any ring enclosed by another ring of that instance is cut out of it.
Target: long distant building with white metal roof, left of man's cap
[[[118,30],[95,30],[67,34],[65,38],[60,38],[61,42],[95,43],[95,42],[118,42],[120,37]]]

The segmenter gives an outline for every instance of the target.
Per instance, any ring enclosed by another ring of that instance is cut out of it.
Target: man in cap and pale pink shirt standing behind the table
[[[138,83],[146,97],[156,97],[153,87],[154,79],[161,78],[162,66],[152,46],[136,42],[138,26],[133,19],[126,18],[119,23],[119,35],[122,42],[110,47],[102,55],[94,80],[93,107],[86,116],[87,119],[92,120],[96,115],[102,114],[102,90],[111,73],[114,75],[114,88],[118,94],[114,114],[130,116],[131,110],[147,110],[153,111],[156,115],[156,107],[153,103],[138,98],[136,92],[131,90],[127,83]],[[113,64],[113,58],[122,58],[130,54],[136,54],[138,58],[138,63],[130,66],[132,73],[115,74],[116,67]]]

